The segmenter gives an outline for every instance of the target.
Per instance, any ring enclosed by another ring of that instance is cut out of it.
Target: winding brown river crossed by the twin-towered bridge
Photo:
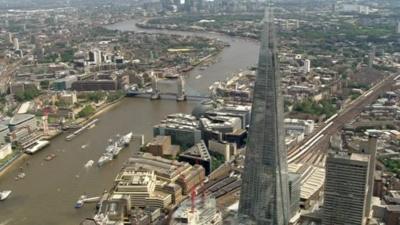
[[[208,87],[224,80],[241,69],[256,63],[258,43],[216,33],[191,33],[166,30],[143,30],[135,21],[125,21],[107,26],[109,29],[148,33],[171,33],[218,38],[230,44],[217,57],[217,63],[205,70],[192,70],[187,81],[188,94],[205,94]],[[196,79],[201,74],[201,79]],[[65,135],[55,138],[51,145],[37,154],[19,162],[0,177],[0,189],[13,191],[7,201],[0,202],[0,225],[73,225],[94,214],[94,205],[85,205],[76,210],[75,202],[82,194],[98,196],[112,186],[123,163],[132,155],[134,144],[121,152],[118,158],[101,168],[86,169],[89,160],[97,161],[104,152],[108,139],[116,134],[133,131],[152,137],[152,127],[170,113],[190,113],[197,102],[175,100],[151,101],[143,98],[125,98],[118,105],[101,114],[100,122],[72,141]],[[86,148],[82,148],[82,146]],[[137,146],[137,145],[136,145]],[[44,158],[50,153],[57,157],[52,161]],[[20,167],[26,177],[15,181]]]

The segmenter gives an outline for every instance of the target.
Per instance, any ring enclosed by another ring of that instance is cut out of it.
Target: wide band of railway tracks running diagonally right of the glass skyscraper
[[[336,117],[325,122],[313,135],[303,140],[295,148],[290,149],[288,151],[288,162],[324,166],[330,137],[340,131],[345,124],[356,118],[364,107],[372,104],[380,94],[390,90],[396,78],[398,77],[394,75],[386,77],[369,91],[349,103]]]

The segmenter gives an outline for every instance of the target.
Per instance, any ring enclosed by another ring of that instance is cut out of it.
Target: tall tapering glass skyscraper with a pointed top
[[[263,20],[239,202],[239,218],[257,225],[287,225],[289,220],[283,97],[276,52],[273,15],[268,7]]]

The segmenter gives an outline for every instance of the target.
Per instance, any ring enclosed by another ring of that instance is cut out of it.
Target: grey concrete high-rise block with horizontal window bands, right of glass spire
[[[368,193],[369,155],[330,153],[322,225],[364,225]]]

